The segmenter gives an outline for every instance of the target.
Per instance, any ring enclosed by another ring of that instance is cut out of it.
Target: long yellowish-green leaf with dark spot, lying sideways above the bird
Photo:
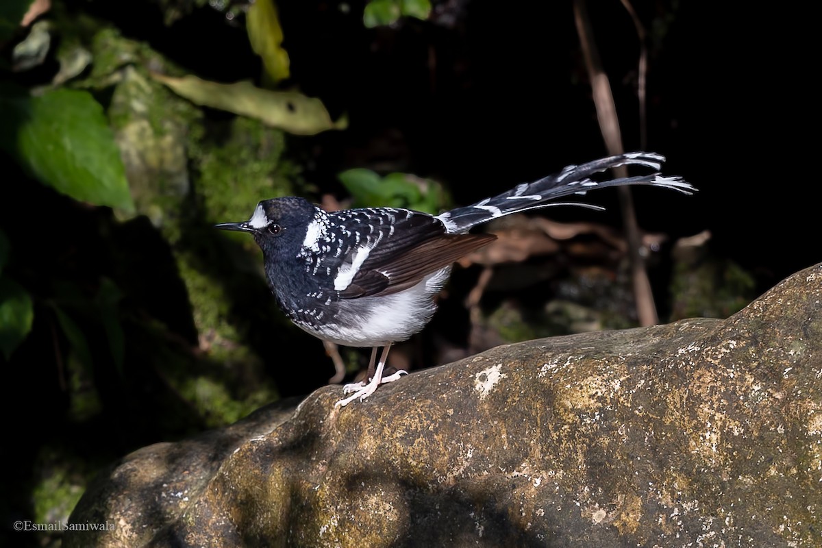
[[[293,91],[263,90],[247,81],[218,84],[196,76],[151,76],[194,104],[255,118],[267,126],[279,127],[289,133],[315,135],[321,131],[348,127],[344,117],[332,122],[320,99]]]

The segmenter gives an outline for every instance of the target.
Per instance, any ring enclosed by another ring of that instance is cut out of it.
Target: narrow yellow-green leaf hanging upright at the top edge
[[[274,0],[256,0],[246,17],[248,39],[274,83],[289,77],[289,53],[282,47],[283,28]]]

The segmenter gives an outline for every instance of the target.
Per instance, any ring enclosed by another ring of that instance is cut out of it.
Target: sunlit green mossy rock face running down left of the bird
[[[298,168],[284,159],[283,131],[243,117],[212,119],[149,73],[180,74],[178,67],[148,44],[90,21],[84,25],[93,39],[85,43],[93,68],[76,85],[109,98],[109,122],[137,213],[169,244],[199,337],[196,356],[158,349],[156,367],[207,426],[237,421],[278,398],[248,342],[248,326],[229,322],[237,302],[252,300],[244,295],[259,292],[264,282],[260,277],[252,287],[243,278],[259,264],[251,238],[212,225],[247,219],[257,201],[293,194]],[[223,245],[235,236],[244,256],[238,246]]]

